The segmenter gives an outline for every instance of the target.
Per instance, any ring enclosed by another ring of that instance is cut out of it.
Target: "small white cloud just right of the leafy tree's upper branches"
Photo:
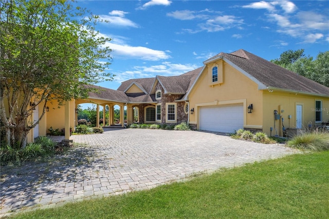
[[[128,12],[114,10],[109,12],[108,13],[109,15],[99,15],[99,18],[104,21],[109,21],[109,23],[104,23],[104,24],[118,26],[118,27],[138,28],[139,26],[136,23],[124,17],[125,14],[127,13]]]

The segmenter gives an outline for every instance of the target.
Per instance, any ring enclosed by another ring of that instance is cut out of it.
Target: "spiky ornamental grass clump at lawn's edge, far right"
[[[309,151],[327,151],[329,150],[329,134],[314,131],[296,135],[287,142],[287,146]]]

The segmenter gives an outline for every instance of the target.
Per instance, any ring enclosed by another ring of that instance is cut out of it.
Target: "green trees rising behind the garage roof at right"
[[[314,60],[304,55],[304,49],[287,50],[271,62],[329,87],[329,51],[319,52]]]

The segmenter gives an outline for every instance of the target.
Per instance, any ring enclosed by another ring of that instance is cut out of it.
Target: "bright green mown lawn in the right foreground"
[[[224,169],[15,218],[328,218],[329,151]]]

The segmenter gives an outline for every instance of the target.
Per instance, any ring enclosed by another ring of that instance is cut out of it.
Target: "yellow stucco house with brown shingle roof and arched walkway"
[[[298,133],[329,120],[329,87],[243,49],[221,52],[203,64],[180,76],[127,80],[117,90],[89,85],[99,92],[62,108],[49,105],[30,139],[45,135],[50,126],[74,128],[77,105],[86,102],[97,104],[97,109],[108,105],[110,124],[114,123],[113,106],[119,105],[122,126],[124,107],[128,125],[137,116],[139,123],[187,122],[196,130],[224,133],[248,129],[283,136],[283,127]]]

